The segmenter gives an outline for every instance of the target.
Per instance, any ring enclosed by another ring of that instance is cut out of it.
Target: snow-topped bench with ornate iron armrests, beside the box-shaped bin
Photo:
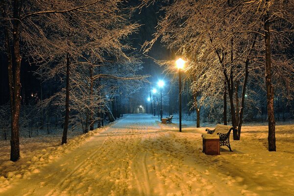
[[[208,134],[211,136],[220,136],[220,147],[221,146],[226,146],[230,149],[230,151],[233,151],[230,146],[230,133],[231,131],[234,130],[234,127],[229,126],[229,125],[222,125],[222,124],[217,124],[216,128],[213,130],[206,129]],[[204,133],[205,134],[205,133]],[[202,134],[202,138],[209,137],[208,134]]]

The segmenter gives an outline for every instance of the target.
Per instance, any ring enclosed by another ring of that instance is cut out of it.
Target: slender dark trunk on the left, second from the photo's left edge
[[[70,120],[70,54],[66,55],[66,97],[65,97],[65,117],[63,126],[63,136],[61,145],[67,143],[67,132]]]

